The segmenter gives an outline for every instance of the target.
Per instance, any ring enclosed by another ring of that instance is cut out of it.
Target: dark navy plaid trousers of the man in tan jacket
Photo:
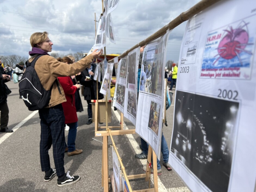
[[[51,169],[48,150],[53,145],[53,159],[57,176],[65,174],[65,116],[61,104],[39,110],[41,119],[40,162],[42,171]]]

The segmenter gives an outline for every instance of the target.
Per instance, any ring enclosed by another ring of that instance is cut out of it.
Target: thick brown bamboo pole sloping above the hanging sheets
[[[191,17],[195,16],[196,14],[200,13],[201,11],[203,11],[204,9],[210,7],[211,5],[215,4],[218,1],[221,1],[221,0],[202,0],[202,1],[198,2],[196,5],[191,7],[189,10],[181,13],[174,20],[172,20],[167,25],[165,25],[164,27],[159,29],[157,32],[155,32],[154,34],[150,35],[148,38],[144,39],[143,41],[139,42],[137,45],[134,45],[132,48],[128,49],[123,54],[119,55],[118,58],[119,59],[123,58],[126,55],[128,55],[128,53],[130,51],[132,51],[133,49],[135,49],[137,47],[142,47],[142,46],[148,44],[149,42],[151,42],[151,41],[161,37],[162,35],[164,35],[166,33],[166,30],[174,29],[175,27],[177,27],[178,25],[180,25],[184,21],[189,20]],[[109,60],[109,62],[112,62],[112,60],[113,59]]]

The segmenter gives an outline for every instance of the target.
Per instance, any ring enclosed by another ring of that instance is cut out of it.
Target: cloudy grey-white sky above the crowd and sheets
[[[188,10],[199,0],[120,0],[111,13],[116,44],[107,39],[106,53],[123,53]],[[30,36],[47,31],[53,51],[88,52],[95,42],[101,0],[0,0],[0,55],[28,57]],[[186,22],[169,36],[167,60],[178,61]]]

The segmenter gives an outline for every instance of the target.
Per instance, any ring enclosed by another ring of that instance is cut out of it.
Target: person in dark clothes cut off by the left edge
[[[11,133],[13,130],[8,129],[9,109],[7,105],[7,95],[11,93],[6,82],[10,81],[11,76],[4,72],[4,68],[0,66],[0,132]]]

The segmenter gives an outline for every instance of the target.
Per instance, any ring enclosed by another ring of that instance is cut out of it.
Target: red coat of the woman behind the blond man
[[[65,123],[75,123],[78,121],[75,105],[75,92],[77,87],[73,85],[70,77],[58,77],[64,90],[66,102],[61,103],[65,116]]]

